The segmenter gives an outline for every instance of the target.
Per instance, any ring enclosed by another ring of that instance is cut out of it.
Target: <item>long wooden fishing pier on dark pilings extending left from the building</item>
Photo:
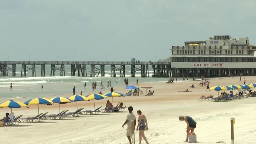
[[[171,77],[170,62],[119,62],[119,61],[0,61],[0,76],[16,76],[16,66],[21,66],[20,76],[27,76],[27,71],[32,71],[32,75],[36,76],[35,65],[41,65],[41,76],[45,76],[45,65],[50,65],[50,76],[55,76],[55,71],[60,71],[60,76],[65,76],[65,65],[71,66],[71,76],[87,76],[90,77],[105,76],[105,65],[110,65],[111,77],[116,77],[116,73],[120,73],[120,77],[125,77],[125,66],[131,65],[131,77],[135,77],[135,72],[140,71],[141,77],[149,77],[148,69],[152,67],[152,77]]]

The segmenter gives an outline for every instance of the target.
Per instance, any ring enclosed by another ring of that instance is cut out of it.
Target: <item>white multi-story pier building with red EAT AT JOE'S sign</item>
[[[249,38],[215,35],[206,41],[172,46],[171,50],[174,77],[251,76],[256,73],[256,46],[249,44]]]

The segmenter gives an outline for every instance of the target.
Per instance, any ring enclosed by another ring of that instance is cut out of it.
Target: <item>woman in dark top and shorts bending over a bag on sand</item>
[[[180,121],[185,121],[187,123],[187,138],[185,142],[188,142],[188,135],[193,134],[196,128],[196,121],[189,116],[179,116]]]

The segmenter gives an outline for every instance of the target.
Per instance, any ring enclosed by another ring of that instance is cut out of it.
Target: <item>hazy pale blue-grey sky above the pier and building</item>
[[[0,0],[0,61],[158,61],[214,35],[256,45],[254,0]]]

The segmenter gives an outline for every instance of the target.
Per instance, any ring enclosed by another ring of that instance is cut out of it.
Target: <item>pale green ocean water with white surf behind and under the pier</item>
[[[83,95],[93,93],[91,83],[97,82],[97,89],[95,92],[101,91],[100,82],[103,82],[103,86],[107,87],[107,81],[111,81],[111,85],[115,89],[118,87],[118,91],[126,92],[124,89],[124,78],[128,78],[129,84],[136,84],[136,80],[139,79],[139,83],[150,84],[154,82],[166,82],[168,78],[152,77],[152,68],[149,67],[149,77],[140,77],[140,71],[135,74],[136,77],[131,76],[131,66],[126,67],[125,77],[120,77],[120,72],[116,72],[116,77],[110,77],[110,66],[105,66],[105,77],[77,77],[71,75],[71,67],[68,65],[65,67],[65,76],[59,76],[60,71],[55,71],[55,76],[50,76],[50,65],[45,66],[45,77],[41,77],[41,66],[36,66],[36,77],[32,76],[32,71],[27,71],[27,77],[20,77],[21,66],[16,66],[16,76],[11,77],[11,71],[8,71],[7,77],[0,77],[0,99],[15,99],[15,98],[34,98],[34,97],[49,97],[59,96],[64,94],[73,94],[73,87],[76,87],[76,94],[83,92]],[[77,75],[77,73],[76,73]],[[90,67],[87,67],[87,76],[90,76]],[[180,78],[178,79],[180,80]],[[83,88],[86,82],[87,88]],[[10,89],[12,83],[13,90]],[[43,85],[44,90],[41,90]],[[106,89],[103,89],[105,91]]]

